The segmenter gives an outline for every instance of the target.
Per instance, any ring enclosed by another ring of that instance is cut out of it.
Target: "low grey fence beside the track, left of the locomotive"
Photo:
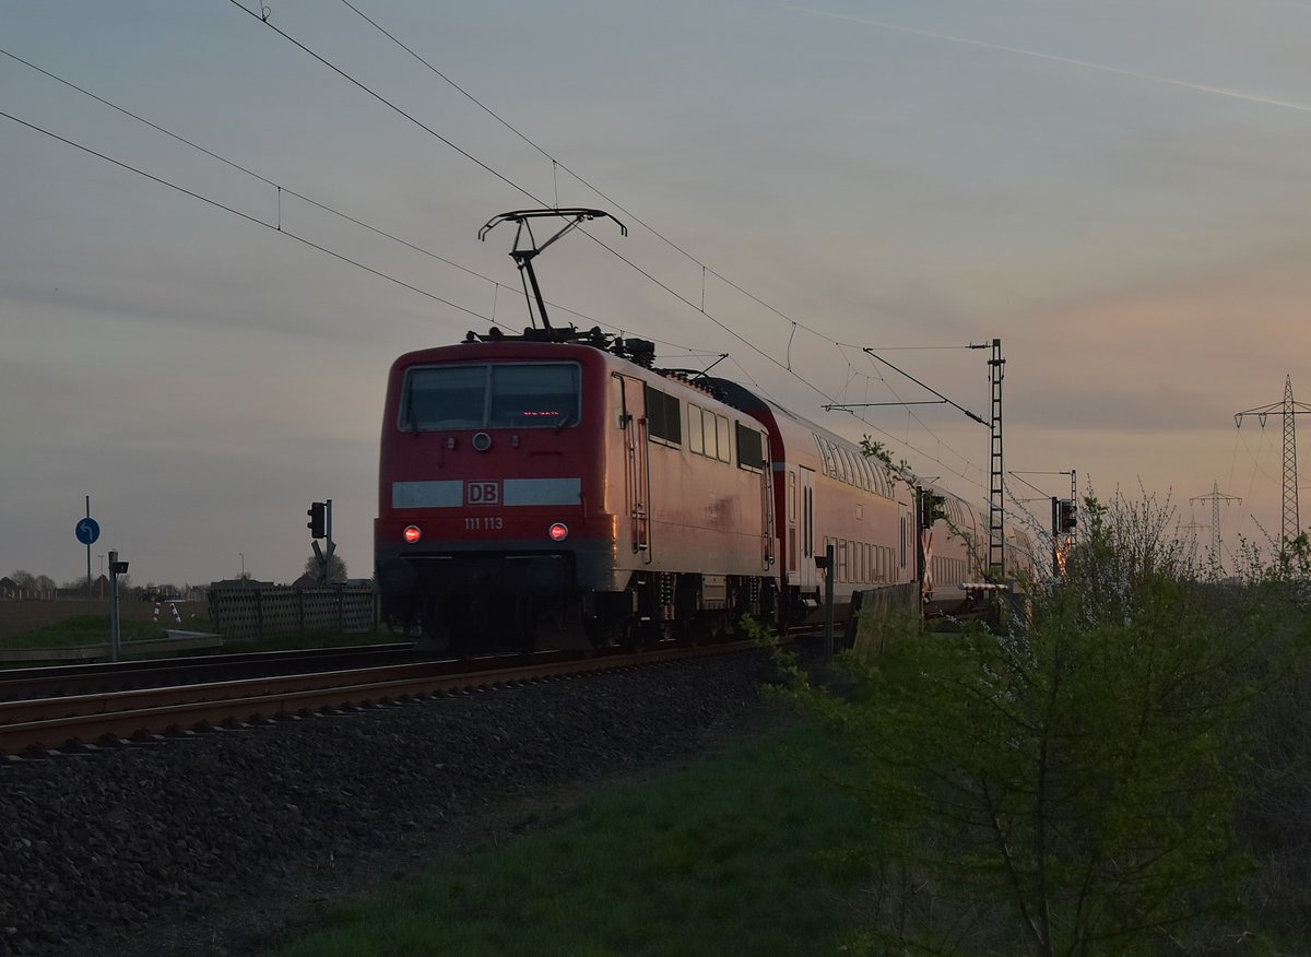
[[[210,623],[227,638],[267,638],[304,632],[363,632],[378,623],[372,585],[292,589],[210,586]]]

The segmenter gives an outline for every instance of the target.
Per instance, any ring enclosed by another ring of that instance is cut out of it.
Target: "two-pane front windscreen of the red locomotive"
[[[421,366],[405,374],[401,429],[558,429],[578,425],[574,363]]]

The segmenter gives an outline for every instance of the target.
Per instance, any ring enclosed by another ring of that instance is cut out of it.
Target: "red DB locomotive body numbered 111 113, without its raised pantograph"
[[[391,620],[458,644],[641,644],[775,617],[764,429],[650,354],[528,330],[395,362],[375,526]]]

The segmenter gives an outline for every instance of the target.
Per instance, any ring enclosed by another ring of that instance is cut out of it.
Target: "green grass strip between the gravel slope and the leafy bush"
[[[802,722],[337,903],[273,953],[838,953],[868,885],[860,809],[825,777],[844,760]]]

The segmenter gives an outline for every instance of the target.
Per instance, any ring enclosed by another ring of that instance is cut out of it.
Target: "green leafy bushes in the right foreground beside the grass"
[[[871,822],[851,952],[1273,953],[1298,933],[1304,901],[1276,899],[1257,853],[1302,827],[1307,860],[1306,737],[1280,729],[1306,713],[1285,680],[1306,671],[1295,564],[1222,583],[1168,507],[1083,514],[1066,574],[1002,627],[878,623],[840,695],[793,670],[788,693],[864,758],[842,781]]]

